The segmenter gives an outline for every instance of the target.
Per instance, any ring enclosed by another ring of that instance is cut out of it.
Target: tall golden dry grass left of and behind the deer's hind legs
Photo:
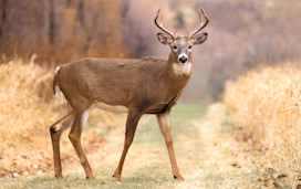
[[[35,65],[34,57],[0,64],[0,177],[40,175],[52,170],[52,147],[49,126],[65,113],[65,106],[54,99],[53,69]],[[90,124],[116,124],[113,114],[93,112]],[[84,134],[83,145],[91,154],[104,140],[95,129]],[[68,137],[62,137],[63,164],[77,164]],[[72,151],[72,153],[71,153]],[[65,166],[64,165],[64,166]]]

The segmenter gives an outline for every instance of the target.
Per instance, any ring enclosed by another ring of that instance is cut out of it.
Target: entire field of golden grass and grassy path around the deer
[[[300,185],[301,71],[298,67],[251,72],[230,84],[225,103],[232,116],[221,104],[179,104],[173,109],[175,153],[185,181],[173,179],[155,116],[144,116],[124,165],[123,181],[116,182],[111,176],[123,148],[125,115],[98,109],[92,112],[82,136],[96,180],[85,179],[68,133],[61,141],[65,178],[53,178],[49,126],[65,113],[65,106],[53,97],[53,71],[33,62],[34,57],[0,65],[0,188],[292,188]]]

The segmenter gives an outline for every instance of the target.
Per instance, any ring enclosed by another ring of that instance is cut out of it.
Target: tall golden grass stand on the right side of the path
[[[240,136],[263,150],[269,165],[300,168],[301,66],[251,71],[226,85],[224,102]]]

